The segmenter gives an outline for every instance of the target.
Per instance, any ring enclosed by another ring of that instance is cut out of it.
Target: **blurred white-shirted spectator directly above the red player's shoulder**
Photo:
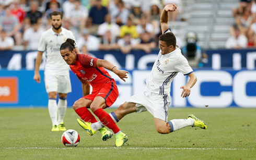
[[[86,45],[88,51],[99,50],[100,41],[96,36],[90,35],[89,30],[83,30],[83,36],[77,40],[78,49],[81,50],[82,46]]]

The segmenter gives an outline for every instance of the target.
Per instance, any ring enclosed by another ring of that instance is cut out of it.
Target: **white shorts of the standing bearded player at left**
[[[46,92],[68,93],[71,92],[69,75],[44,75]]]

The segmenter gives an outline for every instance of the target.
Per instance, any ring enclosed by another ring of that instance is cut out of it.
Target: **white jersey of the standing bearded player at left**
[[[47,75],[69,75],[69,67],[60,53],[61,44],[67,38],[75,40],[73,33],[65,28],[61,28],[61,33],[56,34],[52,28],[46,30],[39,42],[38,51],[46,51],[46,63],[44,74]]]

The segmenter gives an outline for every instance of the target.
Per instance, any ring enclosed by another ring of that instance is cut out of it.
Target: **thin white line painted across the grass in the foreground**
[[[229,149],[229,148],[196,148],[196,147],[76,147],[85,150],[254,150],[252,149]],[[75,147],[0,147],[3,150],[72,150]]]

